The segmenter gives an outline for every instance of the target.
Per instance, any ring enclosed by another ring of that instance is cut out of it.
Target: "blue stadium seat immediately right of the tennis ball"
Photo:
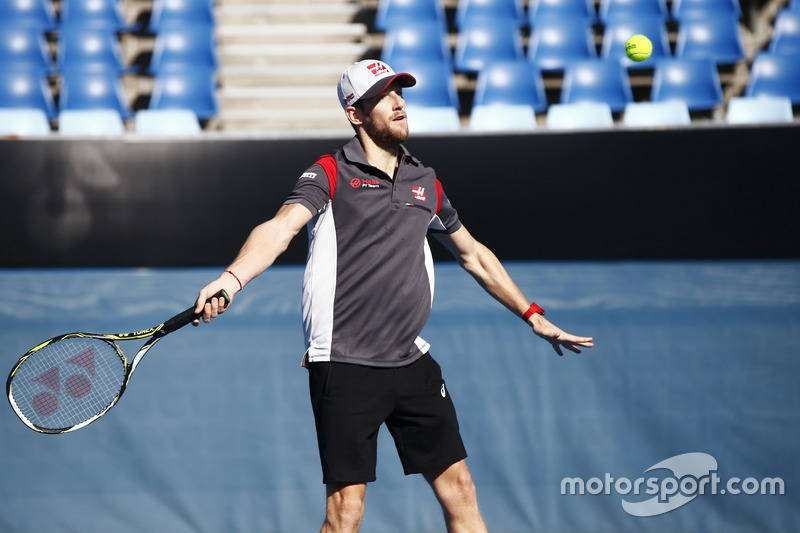
[[[711,59],[717,65],[732,65],[745,58],[739,20],[731,14],[681,21],[675,57]]]

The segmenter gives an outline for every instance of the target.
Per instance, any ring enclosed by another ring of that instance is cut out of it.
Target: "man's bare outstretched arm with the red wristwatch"
[[[524,319],[531,302],[517,287],[500,260],[489,248],[478,242],[464,226],[450,234],[435,233],[434,235],[455,256],[458,264],[469,272],[486,292],[512,313]],[[591,348],[594,346],[592,337],[578,337],[566,333],[542,314],[531,314],[527,322],[534,333],[553,345],[553,349],[558,355],[563,355],[562,346],[575,353],[581,353],[580,347]]]

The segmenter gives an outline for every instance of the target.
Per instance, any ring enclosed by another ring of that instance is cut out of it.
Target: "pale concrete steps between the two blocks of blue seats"
[[[369,49],[361,9],[342,0],[222,0],[218,128],[352,131],[336,84]]]

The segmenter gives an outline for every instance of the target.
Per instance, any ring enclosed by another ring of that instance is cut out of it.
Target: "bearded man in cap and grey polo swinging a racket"
[[[455,408],[430,345],[419,337],[433,298],[429,233],[559,355],[593,346],[592,338],[570,335],[544,318],[461,224],[434,171],[402,145],[408,137],[403,89],[415,83],[376,60],[347,68],[338,91],[355,137],[300,176],[275,217],[253,229],[234,262],[197,299],[196,311],[210,322],[227,307],[222,298],[207,303],[210,295],[221,289],[234,295],[308,226],[303,360],[327,487],[322,532],[358,531],[383,424],[405,473],[430,483],[447,530],[486,531]]]

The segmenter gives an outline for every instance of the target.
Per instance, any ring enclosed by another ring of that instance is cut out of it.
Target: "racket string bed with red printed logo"
[[[10,399],[35,426],[70,428],[112,405],[125,374],[125,357],[110,341],[69,337],[23,361],[14,375]]]

